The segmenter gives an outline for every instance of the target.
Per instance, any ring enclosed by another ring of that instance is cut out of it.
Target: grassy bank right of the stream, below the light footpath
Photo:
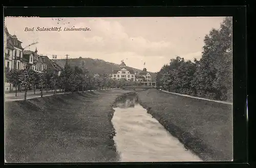
[[[205,161],[232,159],[232,106],[160,90],[138,92],[140,104]]]

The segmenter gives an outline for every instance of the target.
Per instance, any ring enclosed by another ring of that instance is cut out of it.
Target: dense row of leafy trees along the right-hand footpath
[[[205,36],[202,58],[171,59],[157,74],[163,89],[214,100],[232,101],[232,17]]]

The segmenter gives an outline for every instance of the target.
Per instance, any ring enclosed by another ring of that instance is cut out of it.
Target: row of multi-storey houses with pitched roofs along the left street
[[[9,69],[32,69],[37,73],[53,73],[60,75],[62,67],[48,56],[39,55],[37,49],[35,51],[25,50],[22,47],[22,41],[18,40],[16,35],[11,35],[7,27],[4,31],[5,46],[5,67]],[[12,91],[13,86],[5,83],[5,91]]]

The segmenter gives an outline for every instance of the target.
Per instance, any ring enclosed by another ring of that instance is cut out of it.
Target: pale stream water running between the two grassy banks
[[[121,162],[202,161],[137,103],[135,95],[117,101],[112,123]]]

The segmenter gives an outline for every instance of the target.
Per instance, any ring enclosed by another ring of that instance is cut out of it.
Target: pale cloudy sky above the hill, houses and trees
[[[219,29],[224,17],[6,17],[5,26],[25,50],[57,59],[93,58],[157,72],[177,56],[200,59],[204,37]],[[33,28],[34,31],[25,31]],[[36,31],[61,27],[61,31]],[[90,31],[63,31],[65,28]],[[35,45],[29,44],[38,42]]]

